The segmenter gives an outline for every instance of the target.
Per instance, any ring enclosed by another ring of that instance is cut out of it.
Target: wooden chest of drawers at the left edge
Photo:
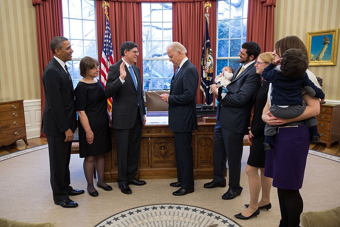
[[[0,146],[18,140],[28,145],[23,100],[0,100]]]

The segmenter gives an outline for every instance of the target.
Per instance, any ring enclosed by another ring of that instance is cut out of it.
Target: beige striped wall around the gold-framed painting
[[[299,36],[306,44],[307,32],[340,27],[339,0],[276,0],[274,43],[287,35]],[[339,43],[339,41],[338,41]],[[310,66],[323,79],[328,100],[340,100],[340,44],[336,66]]]

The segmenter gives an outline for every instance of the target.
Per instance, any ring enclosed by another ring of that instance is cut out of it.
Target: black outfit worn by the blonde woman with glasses
[[[268,90],[269,83],[263,80],[254,93],[253,124],[250,127],[250,130],[254,137],[252,137],[253,143],[249,153],[247,164],[257,168],[264,168],[266,160],[266,151],[263,148],[263,142],[265,141],[264,131],[266,123],[262,120],[262,111],[267,103]]]

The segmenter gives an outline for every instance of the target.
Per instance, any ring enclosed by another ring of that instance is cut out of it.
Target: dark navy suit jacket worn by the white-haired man
[[[168,97],[169,129],[173,132],[191,132],[198,129],[196,114],[198,71],[187,60],[175,78],[174,76]]]

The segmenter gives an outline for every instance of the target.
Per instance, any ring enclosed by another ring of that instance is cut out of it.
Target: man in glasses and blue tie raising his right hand
[[[131,194],[129,184],[144,185],[135,178],[138,170],[142,125],[146,123],[143,84],[137,62],[138,46],[124,42],[120,46],[122,59],[110,66],[105,94],[112,97],[112,127],[116,129],[118,187]]]

